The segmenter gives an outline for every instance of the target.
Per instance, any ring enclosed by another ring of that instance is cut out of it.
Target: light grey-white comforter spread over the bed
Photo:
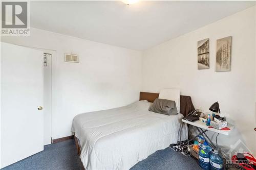
[[[151,103],[77,115],[72,132],[79,139],[86,169],[129,169],[157,150],[177,143],[182,114],[148,111]],[[182,140],[186,138],[185,126]]]

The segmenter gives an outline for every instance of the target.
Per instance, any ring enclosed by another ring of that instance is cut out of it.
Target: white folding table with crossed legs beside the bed
[[[232,126],[232,125],[229,125],[229,124],[228,124],[227,127],[228,127],[230,130],[227,130],[227,131],[226,131],[226,130],[219,130],[219,129],[215,129],[215,128],[208,128],[208,126],[206,126],[205,123],[202,123],[202,122],[200,122],[199,120],[197,120],[197,121],[195,121],[195,122],[190,122],[190,121],[188,121],[188,120],[182,119],[182,122],[183,122],[183,123],[186,123],[186,124],[188,124],[188,125],[195,126],[195,127],[197,128],[198,132],[199,132],[197,136],[195,136],[195,137],[192,138],[192,139],[189,139],[186,143],[189,143],[189,141],[194,140],[196,137],[202,135],[202,136],[205,138],[205,140],[207,141],[207,143],[209,143],[209,144],[211,145],[212,148],[216,148],[216,145],[215,145],[215,144],[211,141],[211,139],[205,134],[205,132],[207,132],[207,131],[212,131],[212,132],[216,132],[216,133],[223,134],[223,135],[229,135],[230,132],[231,132],[232,129],[233,129],[233,126]],[[204,129],[204,130],[203,130],[203,129]],[[208,139],[208,140],[207,140],[207,139]],[[216,140],[217,140],[217,137],[216,137]]]

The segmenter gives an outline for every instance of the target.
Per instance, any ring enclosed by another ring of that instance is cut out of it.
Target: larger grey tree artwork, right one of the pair
[[[217,40],[216,71],[230,71],[231,36]]]

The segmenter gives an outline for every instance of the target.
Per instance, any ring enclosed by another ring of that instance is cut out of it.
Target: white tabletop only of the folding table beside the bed
[[[215,128],[208,128],[208,126],[205,125],[205,123],[202,123],[200,122],[199,120],[195,121],[195,122],[190,122],[188,120],[184,120],[182,119],[182,122],[186,123],[186,124],[189,124],[189,125],[193,125],[193,126],[196,126],[198,128],[202,128],[202,129],[206,129],[206,130],[209,130],[209,131],[212,131],[212,132],[216,132],[216,133],[220,133],[220,134],[223,134],[223,135],[229,135],[230,132],[232,131],[233,129],[233,126],[230,125],[230,124],[227,124],[227,127],[230,129],[230,130],[219,130],[219,129],[215,129]]]

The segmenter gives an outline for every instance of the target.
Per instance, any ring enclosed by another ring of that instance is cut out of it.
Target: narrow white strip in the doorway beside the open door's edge
[[[52,55],[44,53],[44,145],[51,144]]]

